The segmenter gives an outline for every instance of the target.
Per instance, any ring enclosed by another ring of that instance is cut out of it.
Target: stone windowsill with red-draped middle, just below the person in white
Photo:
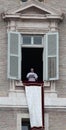
[[[9,92],[10,93],[24,93],[25,92],[25,86],[30,86],[30,85],[37,85],[37,86],[44,86],[44,93],[48,94],[48,95],[55,95],[56,94],[56,90],[55,90],[55,83],[51,82],[22,82],[22,81],[16,81],[14,84],[14,89],[10,89]],[[57,95],[57,94],[56,94]]]

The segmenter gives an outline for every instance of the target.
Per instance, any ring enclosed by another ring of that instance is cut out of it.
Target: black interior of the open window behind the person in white
[[[22,81],[26,81],[26,74],[30,72],[33,67],[34,71],[38,74],[38,81],[43,81],[43,61],[42,61],[42,48],[22,48]]]

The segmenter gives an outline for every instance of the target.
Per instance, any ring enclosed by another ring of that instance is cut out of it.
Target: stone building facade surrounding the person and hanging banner
[[[44,129],[66,130],[65,0],[0,0],[0,130],[30,127],[30,67],[44,82]]]

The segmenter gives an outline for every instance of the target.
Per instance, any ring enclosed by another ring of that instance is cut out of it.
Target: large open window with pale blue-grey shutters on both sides
[[[19,32],[8,33],[8,78],[21,80],[22,64],[26,68],[35,66],[42,73],[42,80],[57,80],[59,78],[59,46],[58,32],[45,35],[25,35]],[[26,45],[26,46],[25,46]],[[25,48],[26,47],[26,48]],[[23,49],[24,48],[24,49]],[[25,51],[28,48],[27,51]],[[42,49],[41,49],[42,48]],[[24,53],[23,53],[23,52]],[[29,60],[27,57],[32,55]],[[25,59],[25,62],[21,62]],[[33,60],[33,62],[32,62]],[[29,67],[28,65],[29,61]],[[34,63],[34,64],[33,64]],[[42,69],[41,69],[42,68]],[[25,70],[25,68],[23,69]],[[28,70],[29,71],[29,70]],[[27,73],[27,72],[26,72]],[[39,77],[40,77],[39,75]],[[25,75],[26,76],[26,75]]]

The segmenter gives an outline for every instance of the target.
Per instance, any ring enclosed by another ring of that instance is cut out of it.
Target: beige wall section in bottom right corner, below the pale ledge
[[[49,130],[66,130],[66,112],[49,112]]]

